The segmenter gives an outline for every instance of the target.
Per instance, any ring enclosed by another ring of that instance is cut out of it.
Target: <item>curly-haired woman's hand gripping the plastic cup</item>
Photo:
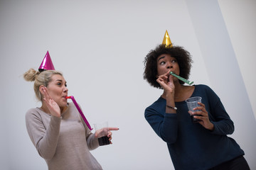
[[[194,118],[201,120],[201,121],[198,121],[198,123],[200,123],[204,128],[208,130],[214,130],[214,125],[209,120],[208,112],[206,111],[206,106],[200,102],[198,102],[198,104],[200,106],[193,108],[193,110],[200,110],[200,111],[196,111],[191,114],[194,115]]]

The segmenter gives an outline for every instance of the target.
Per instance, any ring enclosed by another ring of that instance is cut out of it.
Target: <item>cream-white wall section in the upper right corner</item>
[[[256,1],[218,0],[256,117]]]

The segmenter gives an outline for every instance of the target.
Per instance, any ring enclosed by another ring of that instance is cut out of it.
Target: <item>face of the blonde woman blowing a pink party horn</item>
[[[54,74],[51,79],[52,81],[47,86],[48,94],[60,108],[63,108],[68,104],[67,98],[65,98],[68,96],[67,82],[60,74]]]

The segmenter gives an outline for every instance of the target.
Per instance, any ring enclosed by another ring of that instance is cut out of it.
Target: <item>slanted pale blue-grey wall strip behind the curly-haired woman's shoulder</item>
[[[187,0],[187,5],[210,84],[235,123],[231,137],[244,149],[251,169],[255,169],[255,115],[218,2]]]

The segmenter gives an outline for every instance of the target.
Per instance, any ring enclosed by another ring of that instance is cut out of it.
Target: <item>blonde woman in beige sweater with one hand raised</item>
[[[42,102],[40,108],[26,113],[28,135],[38,154],[46,160],[48,169],[102,169],[90,150],[99,147],[97,137],[80,117],[73,103],[68,103],[67,83],[61,72],[29,69],[23,74],[34,81],[34,91]],[[118,128],[109,128],[118,130]],[[107,137],[112,139],[112,132]]]

